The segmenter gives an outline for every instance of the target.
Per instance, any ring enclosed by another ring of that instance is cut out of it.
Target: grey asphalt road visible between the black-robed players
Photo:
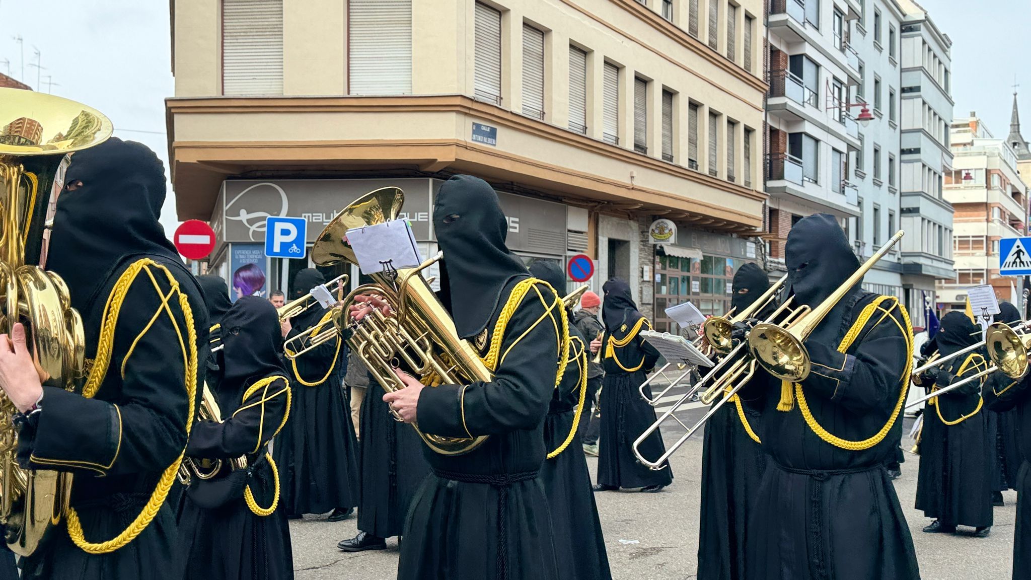
[[[692,408],[685,422],[703,413]],[[906,432],[910,421],[906,421]],[[683,431],[681,431],[683,432]],[[664,432],[666,442],[677,433]],[[903,448],[912,442],[903,439]],[[673,485],[661,493],[604,492],[597,495],[612,577],[617,580],[695,578],[698,551],[701,437],[690,440],[673,456]],[[921,533],[929,523],[912,509],[920,458],[906,453],[896,489],[913,543],[923,578],[929,580],[1008,580],[1012,563],[1016,493],[1004,493],[1005,507],[995,508],[995,526],[989,538]],[[592,474],[597,459],[589,458]],[[397,541],[379,552],[345,554],[336,543],[356,534],[355,520],[329,523],[310,518],[291,523],[297,580],[388,580],[397,570]]]

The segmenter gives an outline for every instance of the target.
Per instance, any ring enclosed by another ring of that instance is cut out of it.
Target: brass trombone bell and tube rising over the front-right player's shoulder
[[[880,258],[898,244],[905,232],[899,230],[880,247],[870,259],[859,266],[847,280],[837,287],[826,300],[816,308],[801,305],[790,324],[757,324],[749,332],[749,352],[767,373],[791,383],[798,383],[809,376],[812,362],[803,343],[816,330],[831,309],[859,282]]]

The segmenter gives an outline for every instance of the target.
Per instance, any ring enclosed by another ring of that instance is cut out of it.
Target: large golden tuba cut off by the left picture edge
[[[47,386],[81,387],[86,339],[68,287],[40,267],[46,211],[65,155],[103,142],[111,130],[106,117],[74,101],[0,89],[0,331],[26,325]],[[25,556],[61,521],[71,475],[19,466],[15,411],[0,392],[0,523],[7,546]]]

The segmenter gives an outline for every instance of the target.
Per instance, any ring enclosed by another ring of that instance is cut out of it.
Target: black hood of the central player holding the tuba
[[[441,300],[458,335],[475,336],[487,327],[505,286],[529,276],[523,260],[505,246],[508,221],[498,194],[478,178],[453,176],[437,193],[433,228],[444,253]]]

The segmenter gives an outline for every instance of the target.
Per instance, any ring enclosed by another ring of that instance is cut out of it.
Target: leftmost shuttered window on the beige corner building
[[[282,0],[223,1],[222,94],[282,94]]]

